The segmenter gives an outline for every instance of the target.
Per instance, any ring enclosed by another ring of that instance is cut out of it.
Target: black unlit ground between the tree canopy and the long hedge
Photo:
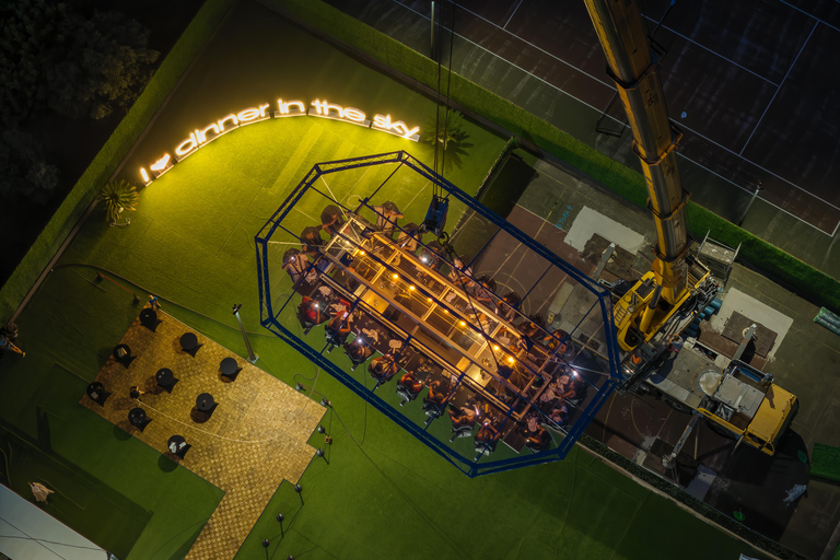
[[[149,48],[161,52],[155,62],[160,65],[192,20],[201,0],[128,1],[119,2],[117,7],[105,0],[83,0],[73,2],[73,5],[82,12],[92,7],[100,10],[116,9],[143,24],[150,30]],[[166,18],[160,18],[164,9]],[[46,161],[58,167],[60,178],[55,196],[45,205],[18,197],[0,199],[0,232],[3,236],[0,285],[7,281],[124,116],[118,113],[102,120],[75,120],[46,115],[27,122],[32,127],[31,131],[40,140]]]

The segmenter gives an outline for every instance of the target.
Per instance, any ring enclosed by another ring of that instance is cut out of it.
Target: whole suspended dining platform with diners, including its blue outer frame
[[[430,183],[452,229],[402,230],[399,220],[425,223],[429,198],[406,208]],[[335,211],[338,226],[314,223]],[[316,164],[255,241],[262,326],[470,477],[563,458],[621,378],[608,290],[407,152]],[[290,249],[303,273],[283,268]],[[521,258],[504,257],[514,250]],[[469,288],[487,285],[474,270],[493,289]],[[579,390],[557,423],[565,393],[550,387],[563,372]],[[430,401],[432,385],[442,397]],[[470,415],[493,428],[488,441],[456,432]]]

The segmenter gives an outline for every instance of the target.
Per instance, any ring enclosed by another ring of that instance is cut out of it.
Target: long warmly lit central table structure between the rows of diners
[[[516,326],[470,294],[474,279],[429,267],[358,215],[319,250],[329,260],[322,281],[432,357],[456,388],[479,394],[516,421],[525,417],[550,380],[551,353],[540,345],[525,351]],[[334,280],[339,269],[353,282]]]

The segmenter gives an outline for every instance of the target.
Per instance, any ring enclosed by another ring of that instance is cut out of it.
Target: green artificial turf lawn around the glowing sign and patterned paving
[[[223,89],[213,86],[218,75],[228,77]],[[386,110],[418,122],[434,107],[245,2],[124,174],[135,178],[140,165],[171,150],[185,129],[268,95],[287,95],[283,88],[341,91],[345,104],[364,107],[395,100],[399,106]],[[504,139],[474,125],[468,131],[469,158],[447,177],[475,191]],[[56,418],[52,454],[152,512],[136,542],[121,537],[131,548],[124,560],[175,559],[189,548],[222,492],[184,468],[172,469],[160,451],[77,404],[139,312],[129,293],[95,282],[103,271],[141,296],[156,293],[167,313],[240,354],[245,349],[230,308],[244,303],[257,365],[285,383],[314,386],[314,398],[324,394],[332,402],[325,418],[334,438],[326,458],[314,459],[300,495],[288,485],[278,490],[240,559],[673,558],[675,550],[686,559],[759,557],[578,448],[562,463],[468,479],[259,327],[253,242],[259,228],[314,163],[399,149],[431,162],[429,148],[370,129],[311,117],[268,120],[202,148],[143,189],[130,226],[109,228],[101,214],[92,215],[19,319],[19,342],[27,354],[2,364],[2,419],[37,441],[36,409],[49,411]],[[363,173],[357,178],[330,187],[347,199],[376,185]],[[395,183],[389,197],[413,219],[429,194]],[[320,209],[298,210],[301,223],[308,223]],[[455,223],[459,210],[452,212]],[[311,443],[323,447],[324,436],[315,433]],[[282,530],[277,513],[287,516]],[[680,536],[703,546],[680,547]],[[264,538],[270,538],[268,549]]]

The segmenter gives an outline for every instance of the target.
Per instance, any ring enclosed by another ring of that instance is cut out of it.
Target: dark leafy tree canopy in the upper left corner
[[[45,200],[58,170],[44,160],[27,120],[45,113],[101,119],[126,110],[151,77],[159,52],[126,15],[49,0],[0,7],[0,196]]]

